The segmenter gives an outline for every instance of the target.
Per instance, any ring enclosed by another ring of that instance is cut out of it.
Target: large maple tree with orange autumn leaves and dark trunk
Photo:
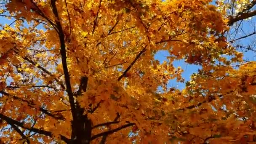
[[[1,141],[207,143],[253,133],[229,117],[237,109],[211,107],[243,90],[221,85],[240,84],[232,63],[243,55],[224,37],[233,19],[209,2],[5,1],[0,16],[13,22],[0,35]],[[160,50],[168,61],[154,59]],[[183,91],[167,86],[184,81],[179,59],[202,66]]]

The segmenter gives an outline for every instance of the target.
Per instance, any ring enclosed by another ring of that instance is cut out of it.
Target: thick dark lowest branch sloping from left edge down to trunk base
[[[6,123],[8,123],[9,125],[17,125],[17,126],[19,126],[21,128],[27,129],[29,131],[33,131],[33,132],[38,133],[38,134],[42,134],[42,135],[45,135],[45,136],[53,137],[53,134],[50,131],[44,131],[44,130],[40,130],[40,129],[37,129],[37,128],[26,128],[24,126],[24,123],[21,123],[21,122],[18,122],[16,120],[13,120],[10,117],[7,117],[7,116],[5,116],[3,114],[0,114],[0,118],[5,120]],[[61,140],[65,141],[66,143],[69,143],[69,139],[68,138],[66,138],[63,135],[60,135],[60,136],[61,136]]]

